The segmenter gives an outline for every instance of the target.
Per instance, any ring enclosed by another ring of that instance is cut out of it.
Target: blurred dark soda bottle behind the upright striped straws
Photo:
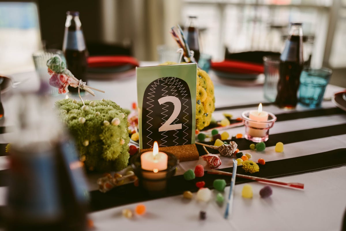
[[[186,37],[186,42],[189,45],[190,50],[193,50],[196,62],[199,60],[200,50],[199,50],[199,42],[198,42],[198,28],[196,27],[196,16],[189,16],[188,23],[184,28],[184,35]]]

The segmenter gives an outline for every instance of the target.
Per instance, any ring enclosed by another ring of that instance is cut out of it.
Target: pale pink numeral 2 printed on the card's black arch
[[[164,124],[162,124],[160,128],[158,128],[158,131],[170,131],[181,129],[181,123],[171,124],[178,117],[181,110],[181,102],[179,98],[175,96],[164,96],[158,99],[158,103],[160,103],[160,105],[166,102],[172,102],[174,105],[174,110],[170,118]]]

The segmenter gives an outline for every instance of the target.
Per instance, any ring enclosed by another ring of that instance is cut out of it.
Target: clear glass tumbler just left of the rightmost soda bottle
[[[264,56],[264,86],[263,95],[269,102],[275,102],[277,82],[279,81],[280,56]]]

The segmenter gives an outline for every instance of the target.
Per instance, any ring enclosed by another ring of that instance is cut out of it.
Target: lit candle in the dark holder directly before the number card
[[[140,155],[142,169],[153,171],[154,173],[167,169],[167,161],[167,154],[158,151],[158,144],[156,141],[154,142],[153,151],[146,151]]]

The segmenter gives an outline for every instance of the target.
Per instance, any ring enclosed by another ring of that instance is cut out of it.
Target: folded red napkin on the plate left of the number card
[[[139,66],[137,59],[131,56],[91,56],[88,67],[114,67],[123,65]]]

